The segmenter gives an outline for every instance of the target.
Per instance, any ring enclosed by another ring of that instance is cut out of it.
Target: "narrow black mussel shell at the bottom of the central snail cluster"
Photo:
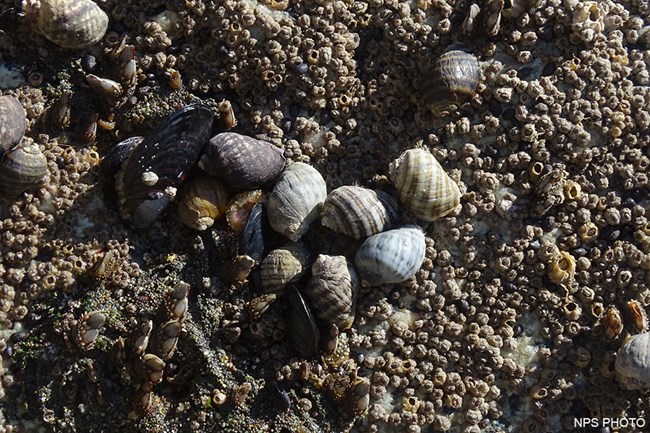
[[[305,298],[294,286],[287,287],[289,298],[289,313],[287,323],[287,338],[291,347],[305,358],[310,358],[318,352],[320,331]]]

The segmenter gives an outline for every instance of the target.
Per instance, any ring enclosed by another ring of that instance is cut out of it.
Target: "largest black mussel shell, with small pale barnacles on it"
[[[116,177],[120,212],[137,228],[151,224],[173,199],[203,152],[212,130],[212,112],[192,104],[165,119],[133,149]],[[158,181],[143,182],[155,173]]]

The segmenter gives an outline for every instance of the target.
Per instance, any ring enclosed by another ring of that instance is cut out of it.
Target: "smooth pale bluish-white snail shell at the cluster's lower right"
[[[409,224],[366,239],[354,261],[361,279],[371,286],[401,283],[420,269],[425,249],[422,229]]]

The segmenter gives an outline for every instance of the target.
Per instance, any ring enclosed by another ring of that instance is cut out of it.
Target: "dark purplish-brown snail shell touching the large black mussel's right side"
[[[282,151],[271,143],[223,132],[210,139],[199,167],[233,190],[245,191],[271,184],[286,163]]]

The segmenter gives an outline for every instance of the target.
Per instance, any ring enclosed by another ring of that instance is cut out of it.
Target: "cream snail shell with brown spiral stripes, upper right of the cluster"
[[[409,149],[389,167],[397,195],[413,215],[434,221],[460,203],[460,190],[436,158],[424,149]]]

